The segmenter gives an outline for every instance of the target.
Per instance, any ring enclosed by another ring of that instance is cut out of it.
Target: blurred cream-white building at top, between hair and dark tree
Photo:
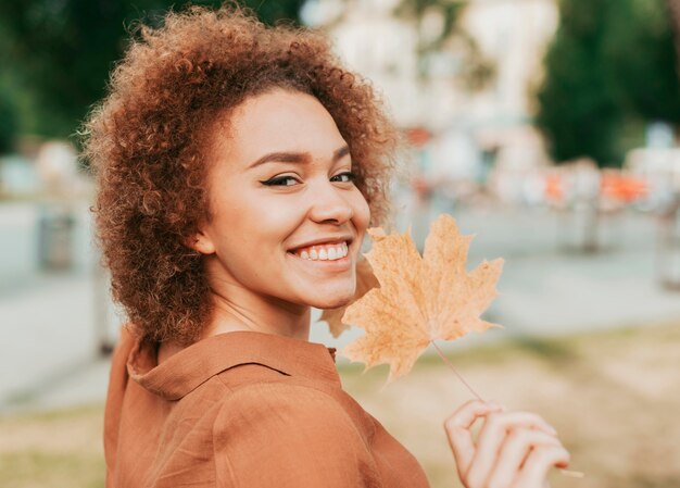
[[[516,198],[522,189],[513,182],[547,163],[531,125],[532,91],[558,24],[557,1],[469,1],[455,28],[492,66],[479,90],[464,80],[466,64],[475,60],[461,43],[428,53],[424,76],[418,42],[436,37],[443,20],[436,11],[419,23],[399,16],[400,3],[310,0],[303,18],[330,33],[341,58],[385,95],[400,126],[431,135],[418,149],[420,176],[450,197],[489,183],[502,199]]]

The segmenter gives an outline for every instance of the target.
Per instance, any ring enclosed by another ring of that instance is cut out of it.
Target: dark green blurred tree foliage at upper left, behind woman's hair
[[[104,93],[113,63],[141,20],[158,25],[172,0],[22,0],[0,2],[0,57],[35,98],[30,132],[65,137]],[[222,1],[194,1],[218,7]],[[243,0],[265,23],[299,22],[304,0]]]

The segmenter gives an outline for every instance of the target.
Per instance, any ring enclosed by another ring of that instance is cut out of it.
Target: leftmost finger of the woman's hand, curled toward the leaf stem
[[[470,427],[480,416],[500,409],[501,406],[492,403],[471,400],[464,403],[444,422],[444,430],[446,431],[461,479],[468,472],[470,461],[475,454],[475,441],[473,440]]]

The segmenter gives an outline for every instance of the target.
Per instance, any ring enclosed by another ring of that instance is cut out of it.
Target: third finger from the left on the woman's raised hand
[[[562,447],[559,439],[542,430],[518,428],[511,431],[501,447],[501,453],[489,477],[489,488],[508,486],[518,476],[531,449]]]

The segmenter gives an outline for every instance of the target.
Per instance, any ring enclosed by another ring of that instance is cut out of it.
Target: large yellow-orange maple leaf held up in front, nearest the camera
[[[374,243],[366,259],[379,287],[352,303],[342,322],[366,334],[341,352],[369,368],[390,364],[388,383],[411,371],[436,339],[453,340],[498,324],[479,315],[498,295],[503,260],[465,271],[474,236],[462,236],[455,220],[440,215],[425,241],[423,258],[408,236],[369,229]]]

